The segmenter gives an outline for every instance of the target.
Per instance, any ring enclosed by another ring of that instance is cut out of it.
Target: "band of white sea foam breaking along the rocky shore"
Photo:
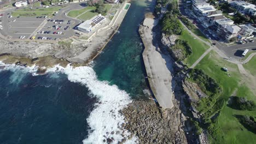
[[[0,62],[0,66],[2,64]],[[4,66],[4,69],[7,70],[23,69],[32,74],[36,74],[37,71],[37,67],[24,68],[14,64],[4,64]],[[109,85],[107,81],[98,81],[96,73],[91,67],[73,68],[68,65],[63,68],[56,65],[46,71],[46,73],[49,72],[65,73],[69,81],[82,83],[82,85],[88,87],[90,95],[98,99],[95,109],[91,111],[90,116],[86,119],[91,130],[83,143],[107,143],[107,139],[113,139],[113,143],[118,143],[123,139],[126,139],[126,143],[137,143],[137,138],[134,136],[127,140],[130,133],[121,128],[125,121],[124,116],[120,115],[119,111],[131,103],[131,99],[125,91],[121,91],[115,85]]]

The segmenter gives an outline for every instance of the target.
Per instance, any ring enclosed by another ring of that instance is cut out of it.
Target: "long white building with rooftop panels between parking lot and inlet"
[[[90,20],[86,20],[81,23],[77,28],[81,32],[89,33],[94,30],[98,25],[101,25],[106,18],[101,14],[92,17]]]

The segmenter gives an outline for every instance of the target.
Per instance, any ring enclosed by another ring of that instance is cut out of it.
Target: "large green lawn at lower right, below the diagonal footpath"
[[[254,62],[256,59],[254,60]],[[221,70],[222,67],[229,69],[228,72]],[[240,111],[231,109],[227,106],[230,96],[246,97],[256,102],[256,97],[246,84],[242,84],[243,76],[239,73],[237,65],[224,61],[216,52],[211,51],[202,61],[196,65],[196,68],[202,69],[205,73],[215,79],[223,88],[219,95],[219,101],[225,101],[223,109],[220,109],[220,116],[215,123],[216,130],[209,130],[212,143],[256,143],[256,135],[248,131],[238,122],[234,115],[256,116],[256,111]],[[231,77],[227,75],[229,73]],[[216,103],[217,105],[217,103]],[[214,106],[213,106],[214,107]],[[219,110],[218,109],[218,110]],[[217,111],[217,110],[211,110]],[[219,128],[219,129],[218,129]]]

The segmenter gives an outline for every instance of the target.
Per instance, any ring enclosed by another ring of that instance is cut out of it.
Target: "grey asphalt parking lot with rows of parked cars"
[[[74,27],[81,21],[65,15],[66,10],[61,9],[53,18],[44,17],[10,17],[11,10],[5,11],[0,18],[3,29],[0,33],[8,38],[59,40],[77,35]],[[67,9],[69,10],[69,9]],[[44,38],[43,38],[44,37]]]

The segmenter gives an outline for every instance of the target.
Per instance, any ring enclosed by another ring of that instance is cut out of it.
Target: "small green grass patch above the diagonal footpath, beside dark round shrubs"
[[[194,39],[194,37],[189,34],[187,29],[184,29],[182,35],[179,39],[187,40],[189,46],[192,49],[192,54],[184,60],[184,63],[190,67],[210,46],[203,44],[201,41]]]

